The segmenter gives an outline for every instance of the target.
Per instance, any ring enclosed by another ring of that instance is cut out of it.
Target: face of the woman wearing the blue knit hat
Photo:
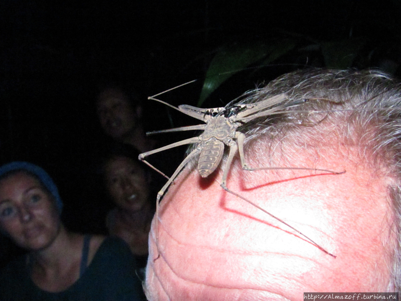
[[[61,222],[52,196],[19,172],[0,180],[0,226],[17,245],[42,250],[57,237]]]

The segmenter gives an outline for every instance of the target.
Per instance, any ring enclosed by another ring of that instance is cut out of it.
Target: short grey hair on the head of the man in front
[[[387,188],[397,239],[395,250],[388,251],[392,255],[392,266],[387,289],[400,291],[400,82],[378,70],[301,70],[249,91],[235,103],[255,103],[281,93],[288,96],[284,112],[252,120],[239,128],[247,137],[245,148],[252,148],[252,152],[245,152],[247,160],[265,156],[274,166],[278,150],[284,150],[281,154],[291,153],[288,148],[291,150],[311,140],[319,143],[328,133],[334,133],[347,145],[357,146],[364,164],[395,179],[396,184]],[[255,144],[260,141],[269,145],[267,150],[264,147],[258,152]]]

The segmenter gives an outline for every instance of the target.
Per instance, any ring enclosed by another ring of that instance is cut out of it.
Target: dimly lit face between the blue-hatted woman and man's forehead
[[[121,209],[135,212],[148,202],[149,183],[144,170],[127,157],[110,159],[105,166],[107,190]]]

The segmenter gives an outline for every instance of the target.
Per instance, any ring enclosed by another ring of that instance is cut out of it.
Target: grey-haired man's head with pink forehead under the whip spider
[[[296,72],[245,101],[279,93],[308,100],[240,129],[249,137],[247,163],[346,173],[248,172],[237,160],[227,186],[337,257],[224,191],[221,172],[203,179],[188,168],[160,204],[158,248],[153,221],[150,300],[301,300],[306,291],[399,288],[399,137],[390,124],[398,111],[377,109],[390,98],[396,104],[398,85],[374,72]]]

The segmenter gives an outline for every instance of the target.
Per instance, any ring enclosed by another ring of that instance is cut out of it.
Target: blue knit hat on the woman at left
[[[26,170],[31,174],[34,174],[37,176],[42,183],[43,186],[49,190],[49,192],[53,195],[54,199],[56,200],[56,206],[59,211],[59,213],[62,212],[63,210],[63,202],[61,201],[60,195],[59,195],[59,190],[57,189],[56,184],[54,184],[53,179],[50,178],[48,173],[46,173],[42,168],[39,166],[28,163],[28,162],[20,162],[20,161],[15,161],[11,162],[8,164],[3,165],[0,167],[0,178],[3,177],[3,175],[12,172],[12,171],[17,171],[17,170]]]

